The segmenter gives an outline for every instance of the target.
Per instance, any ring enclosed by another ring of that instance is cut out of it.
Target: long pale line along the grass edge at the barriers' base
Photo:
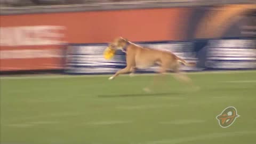
[[[256,73],[256,70],[227,70],[227,71],[199,71],[199,72],[189,72],[188,75],[198,75],[198,74],[234,74],[234,73]],[[171,75],[168,73],[167,75]],[[113,74],[107,75],[30,75],[30,76],[0,76],[0,79],[41,79],[41,78],[76,78],[76,77],[109,77]],[[154,76],[157,74],[134,74],[134,76]],[[129,76],[129,75],[120,75]]]

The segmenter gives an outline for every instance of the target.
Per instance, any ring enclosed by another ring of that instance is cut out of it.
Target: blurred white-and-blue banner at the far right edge
[[[207,70],[256,68],[256,39],[212,39],[200,51]]]

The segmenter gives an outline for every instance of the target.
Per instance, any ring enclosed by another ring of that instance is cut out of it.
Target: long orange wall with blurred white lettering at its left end
[[[62,68],[61,55],[37,58],[29,51],[62,50],[63,42],[104,43],[118,36],[130,41],[180,40],[188,17],[189,9],[185,8],[0,15],[0,38],[5,42],[0,51],[9,54],[0,58],[0,71]],[[61,29],[56,30],[55,26]],[[59,43],[49,42],[54,38]],[[22,55],[10,56],[12,51]]]

